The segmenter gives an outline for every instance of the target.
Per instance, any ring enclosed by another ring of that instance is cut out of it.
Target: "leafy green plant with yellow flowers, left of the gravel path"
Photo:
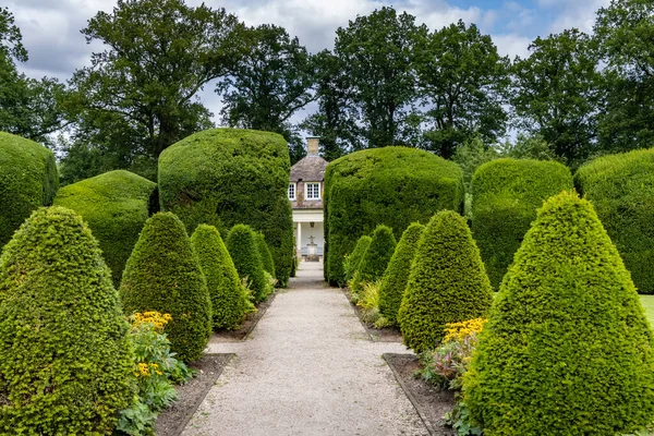
[[[177,400],[173,385],[189,380],[193,372],[174,358],[162,332],[172,317],[158,312],[130,317],[130,340],[134,347],[136,400],[121,411],[118,435],[154,435],[157,415]]]

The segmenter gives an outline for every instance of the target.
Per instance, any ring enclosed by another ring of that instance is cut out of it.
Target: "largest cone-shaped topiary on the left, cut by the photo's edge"
[[[0,434],[111,434],[133,397],[128,329],[86,223],[34,211],[0,257]]]

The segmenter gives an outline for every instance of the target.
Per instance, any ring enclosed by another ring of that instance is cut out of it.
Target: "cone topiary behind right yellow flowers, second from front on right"
[[[484,316],[493,294],[480,251],[465,219],[436,214],[423,231],[398,320],[407,347],[435,349],[448,323]]]

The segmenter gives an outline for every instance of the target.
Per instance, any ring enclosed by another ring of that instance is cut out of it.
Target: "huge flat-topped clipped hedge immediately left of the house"
[[[238,223],[263,232],[278,282],[286,286],[295,256],[290,168],[287,143],[276,133],[199,132],[159,157],[161,209],[177,214],[189,232],[199,223],[215,226],[223,237]]]

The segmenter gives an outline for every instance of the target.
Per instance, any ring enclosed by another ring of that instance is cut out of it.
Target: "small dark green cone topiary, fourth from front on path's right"
[[[377,226],[354,275],[354,289],[360,289],[366,282],[373,283],[384,276],[396,245],[392,229],[384,225]]]

